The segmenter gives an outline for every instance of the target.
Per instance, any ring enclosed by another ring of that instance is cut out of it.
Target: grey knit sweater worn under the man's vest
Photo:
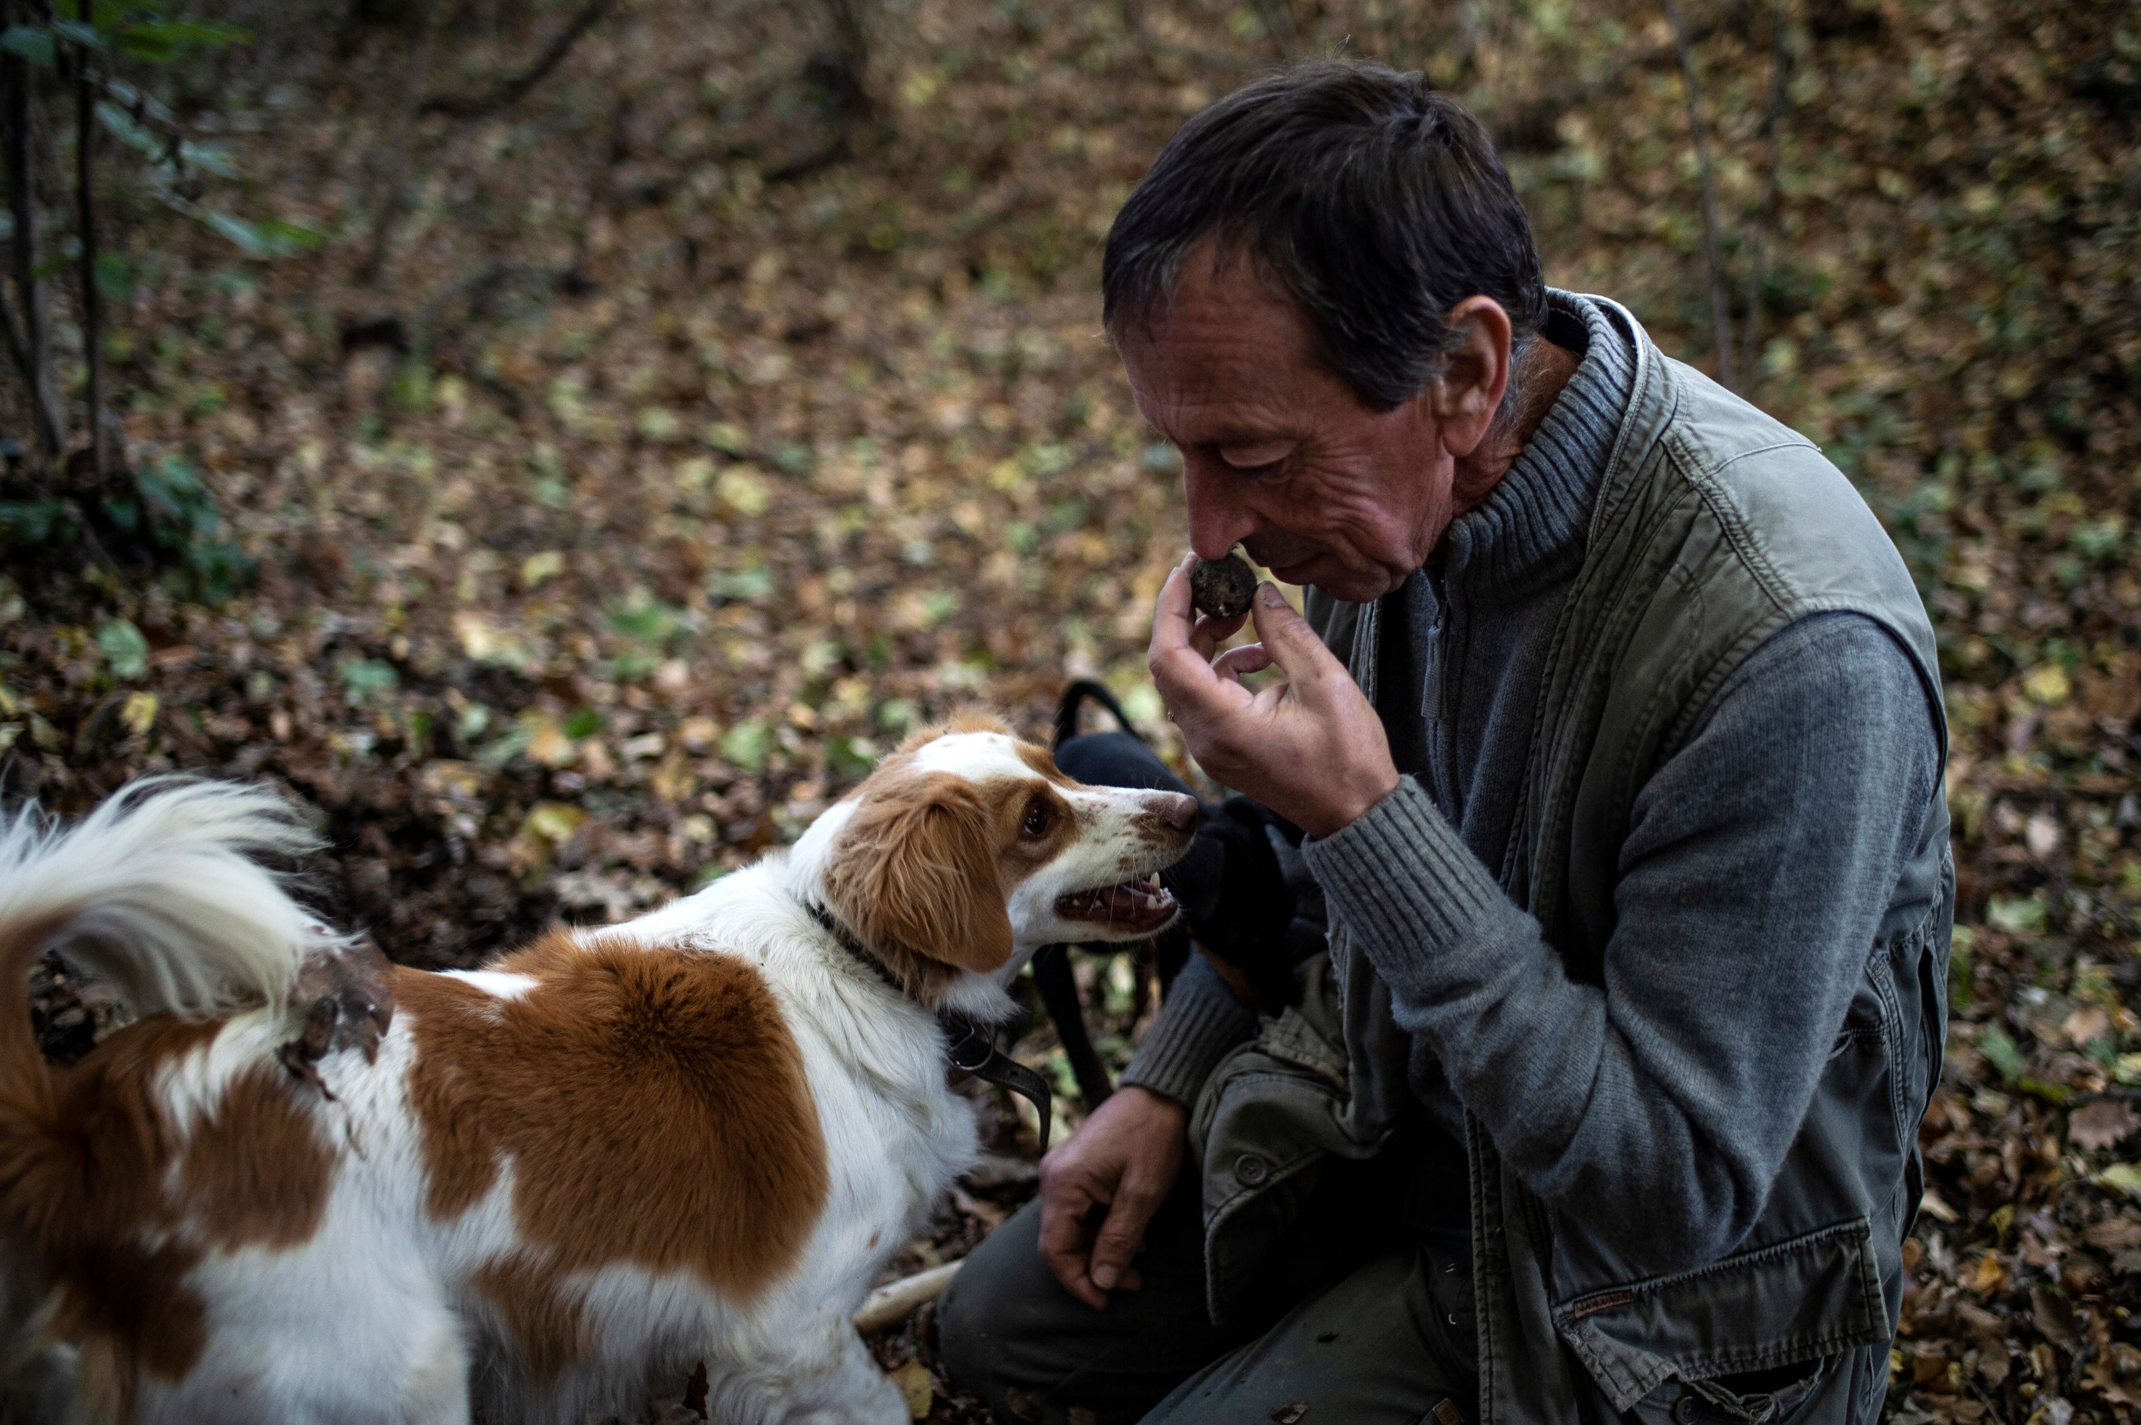
[[[1706,1260],[1760,1213],[1841,1027],[1933,790],[1935,721],[1871,620],[1773,635],[1636,802],[1616,941],[1644,952],[1569,980],[1497,873],[1634,355],[1567,293],[1548,336],[1582,351],[1576,374],[1383,606],[1377,710],[1404,777],[1306,856],[1392,991],[1432,1119],[1456,1132],[1469,1108],[1539,1196]],[[1199,959],[1124,1081],[1190,1102],[1252,1027]]]

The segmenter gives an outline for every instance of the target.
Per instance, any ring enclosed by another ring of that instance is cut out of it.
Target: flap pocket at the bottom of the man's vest
[[[1554,1307],[1554,1329],[1614,1410],[1674,1378],[1715,1382],[1886,1344],[1869,1237],[1867,1217],[1854,1217],[1694,1271],[1586,1292]],[[1745,1419],[1777,1419],[1781,1406]]]

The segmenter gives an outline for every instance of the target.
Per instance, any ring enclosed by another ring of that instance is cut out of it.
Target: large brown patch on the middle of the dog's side
[[[501,999],[394,978],[430,1215],[473,1207],[510,1158],[514,1215],[559,1273],[632,1262],[749,1297],[788,1269],[824,1207],[826,1155],[758,969],[565,931],[492,967],[537,984]]]

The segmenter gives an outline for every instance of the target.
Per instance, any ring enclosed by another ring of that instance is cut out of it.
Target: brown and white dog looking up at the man
[[[447,974],[308,922],[265,792],[17,815],[6,974],[58,946],[146,1012],[71,1070],[0,1021],[17,1363],[92,1421],[580,1421],[698,1363],[717,1421],[904,1421],[850,1318],[976,1158],[936,1012],[1158,931],[1195,809],[959,721],[786,854]]]

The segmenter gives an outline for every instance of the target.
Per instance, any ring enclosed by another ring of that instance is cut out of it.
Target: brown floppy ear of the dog
[[[865,790],[826,867],[826,894],[863,944],[989,974],[1011,959],[991,817],[951,772]]]

